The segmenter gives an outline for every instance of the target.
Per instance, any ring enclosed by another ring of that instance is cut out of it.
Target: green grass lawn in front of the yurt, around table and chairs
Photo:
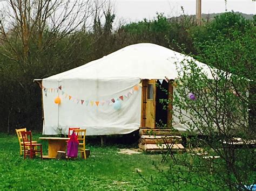
[[[40,136],[33,135],[33,139],[38,140]],[[47,141],[38,142],[43,144],[46,155]],[[222,174],[209,174],[208,166],[197,160],[194,162],[198,171],[192,172],[187,167],[172,165],[171,161],[161,163],[161,154],[121,154],[120,148],[137,146],[125,143],[122,138],[116,137],[114,143],[108,140],[104,147],[99,143],[97,138],[87,138],[86,148],[90,148],[91,155],[86,160],[24,160],[19,155],[17,136],[0,134],[0,190],[203,190],[205,185],[211,190],[226,190],[221,185],[211,186],[208,181],[218,180]],[[186,153],[177,155],[181,161],[190,158]]]

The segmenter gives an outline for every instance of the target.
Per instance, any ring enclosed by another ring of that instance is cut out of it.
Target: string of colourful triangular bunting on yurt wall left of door
[[[86,106],[88,106],[88,104],[90,103],[91,106],[93,106],[95,104],[97,107],[99,105],[103,106],[105,103],[106,103],[105,105],[112,105],[113,103],[117,102],[118,100],[124,101],[124,97],[126,97],[125,98],[125,100],[126,100],[127,98],[129,98],[129,94],[133,95],[135,91],[139,90],[139,87],[142,87],[142,82],[140,82],[139,84],[136,84],[130,90],[127,90],[127,93],[124,93],[123,95],[119,95],[110,100],[95,101],[95,100],[80,100],[79,98],[75,98],[75,97],[65,93],[65,91],[63,91],[63,88],[61,85],[58,88],[46,88],[44,86],[41,86],[42,91],[44,91],[46,97],[47,97],[47,94],[46,94],[47,92],[49,92],[49,93],[57,92],[57,93],[61,93],[65,98],[68,98],[70,101],[72,100],[72,102],[74,102],[74,103],[75,102],[77,104],[81,103],[81,105],[86,105]]]

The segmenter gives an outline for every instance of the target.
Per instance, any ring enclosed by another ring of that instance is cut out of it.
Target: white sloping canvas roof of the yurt
[[[176,79],[178,77],[177,64],[184,59],[193,58],[156,44],[134,44],[80,67],[50,76],[47,80],[118,79],[123,77]],[[196,62],[211,76],[207,65]]]

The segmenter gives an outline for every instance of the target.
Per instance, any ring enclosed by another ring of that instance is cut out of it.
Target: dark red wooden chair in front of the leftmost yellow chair
[[[22,139],[23,139],[23,148],[24,148],[24,159],[26,159],[26,155],[29,155],[30,158],[33,158],[36,153],[41,154],[41,159],[43,158],[42,152],[42,144],[32,143],[32,133],[31,131],[22,131]],[[37,147],[40,147],[38,149]]]

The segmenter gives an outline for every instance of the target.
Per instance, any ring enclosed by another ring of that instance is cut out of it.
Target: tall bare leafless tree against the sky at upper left
[[[96,6],[92,0],[9,0],[8,5],[0,24],[0,40],[6,44],[1,54],[29,64],[31,43],[42,52],[64,37],[91,27],[90,18],[104,1]],[[69,46],[66,44],[66,48]]]

